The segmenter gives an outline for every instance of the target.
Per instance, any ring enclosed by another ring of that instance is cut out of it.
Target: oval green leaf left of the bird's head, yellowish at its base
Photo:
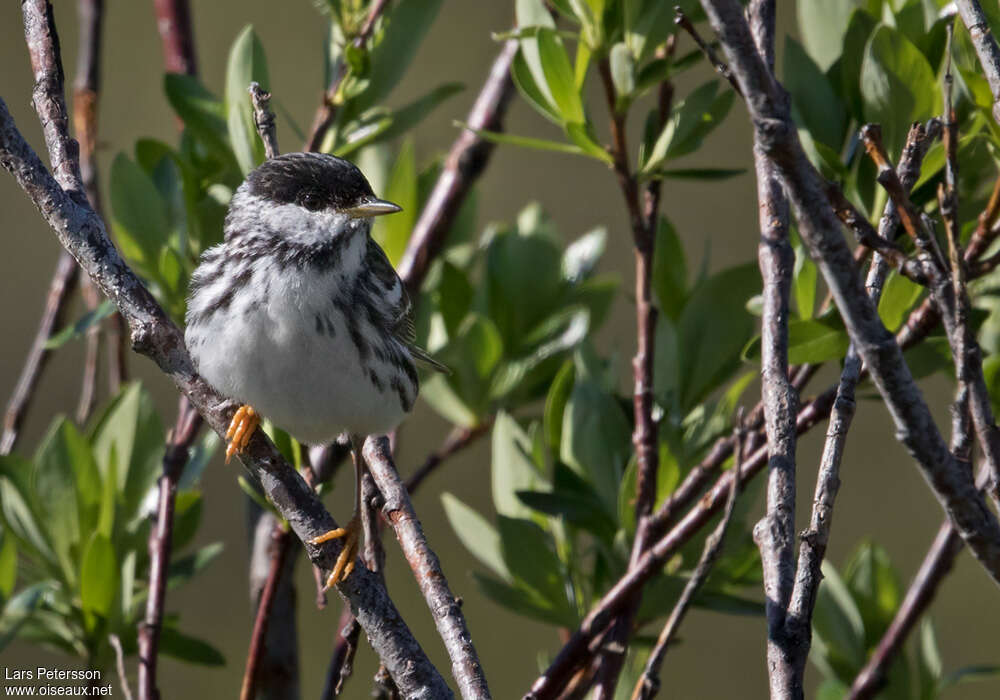
[[[111,163],[111,225],[122,254],[155,275],[170,236],[167,207],[149,175],[123,153]]]

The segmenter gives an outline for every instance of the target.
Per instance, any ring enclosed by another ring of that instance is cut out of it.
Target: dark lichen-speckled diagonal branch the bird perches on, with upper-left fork
[[[49,6],[44,0],[26,0],[22,6],[27,16],[26,38],[33,52],[45,54],[38,71],[58,66],[59,56],[52,42],[46,42],[46,17]],[[40,36],[41,35],[41,36]],[[36,62],[33,61],[33,65]],[[132,347],[154,360],[177,388],[191,400],[206,422],[223,434],[236,405],[209,387],[194,371],[184,345],[183,334],[156,303],[149,290],[129,269],[108,238],[101,220],[72,187],[77,171],[75,149],[66,132],[65,103],[55,89],[58,83],[43,81],[36,90],[36,110],[43,124],[49,155],[58,177],[70,192],[48,173],[37,154],[17,130],[5,102],[0,100],[0,165],[2,165],[39,209],[60,243],[90,274],[100,290],[112,299],[131,330]],[[45,87],[47,85],[47,87]],[[77,178],[78,180],[78,178]],[[256,477],[265,495],[291,525],[300,540],[310,540],[337,527],[316,494],[291,468],[274,444],[256,431],[241,461]],[[310,558],[331,567],[342,545],[306,544]],[[356,571],[337,587],[351,601],[369,641],[385,662],[387,669],[404,694],[447,698],[451,693],[441,675],[428,660],[395,605],[382,586],[367,570]]]

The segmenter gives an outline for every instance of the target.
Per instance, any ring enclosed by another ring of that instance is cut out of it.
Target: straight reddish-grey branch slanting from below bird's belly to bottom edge
[[[403,555],[413,570],[420,592],[434,617],[434,624],[448,650],[452,675],[462,697],[489,698],[490,691],[479,664],[479,656],[472,645],[462,607],[448,587],[448,579],[441,571],[437,555],[427,544],[410,497],[392,463],[388,440],[384,437],[369,438],[365,442],[364,457],[385,498],[382,513],[396,533]]]

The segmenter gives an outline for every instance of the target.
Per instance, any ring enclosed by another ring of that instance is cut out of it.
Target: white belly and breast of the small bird
[[[198,371],[303,442],[395,428],[404,415],[399,396],[388,381],[379,388],[369,377],[373,368],[385,376],[385,366],[362,362],[343,312],[327,301],[332,296],[294,291],[272,288],[264,303],[240,298],[215,314],[204,342],[189,342]]]

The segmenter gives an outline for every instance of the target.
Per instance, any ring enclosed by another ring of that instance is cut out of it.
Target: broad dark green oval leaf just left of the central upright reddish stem
[[[587,480],[609,512],[630,452],[628,419],[614,396],[595,381],[578,378],[563,414],[562,461]]]

